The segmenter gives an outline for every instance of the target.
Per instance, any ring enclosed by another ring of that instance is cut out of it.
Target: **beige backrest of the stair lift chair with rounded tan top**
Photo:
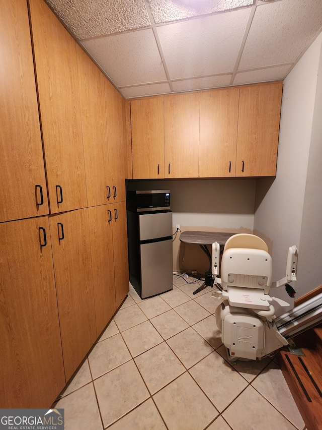
[[[248,233],[231,236],[225,244],[220,278],[222,287],[260,288],[268,294],[272,285],[272,258],[263,239]]]

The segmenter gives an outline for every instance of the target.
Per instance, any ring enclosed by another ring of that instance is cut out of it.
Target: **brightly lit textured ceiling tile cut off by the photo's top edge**
[[[148,0],[155,23],[163,23],[251,6],[253,0]]]

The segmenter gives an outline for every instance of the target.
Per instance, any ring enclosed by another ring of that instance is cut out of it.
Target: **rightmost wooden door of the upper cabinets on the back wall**
[[[240,87],[236,176],[276,174],[282,82]]]

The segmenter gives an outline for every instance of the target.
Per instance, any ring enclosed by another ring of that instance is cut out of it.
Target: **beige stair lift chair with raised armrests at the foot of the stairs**
[[[220,248],[212,244],[212,293],[223,301],[215,311],[221,340],[230,361],[256,360],[287,345],[274,323],[275,307],[289,303],[270,296],[270,289],[296,281],[297,249],[289,248],[286,277],[272,283],[272,258],[267,244],[254,234],[235,234],[224,247],[220,275]]]

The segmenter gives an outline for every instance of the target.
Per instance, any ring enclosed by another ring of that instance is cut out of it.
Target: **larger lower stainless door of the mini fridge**
[[[140,244],[141,298],[172,289],[172,239]]]

